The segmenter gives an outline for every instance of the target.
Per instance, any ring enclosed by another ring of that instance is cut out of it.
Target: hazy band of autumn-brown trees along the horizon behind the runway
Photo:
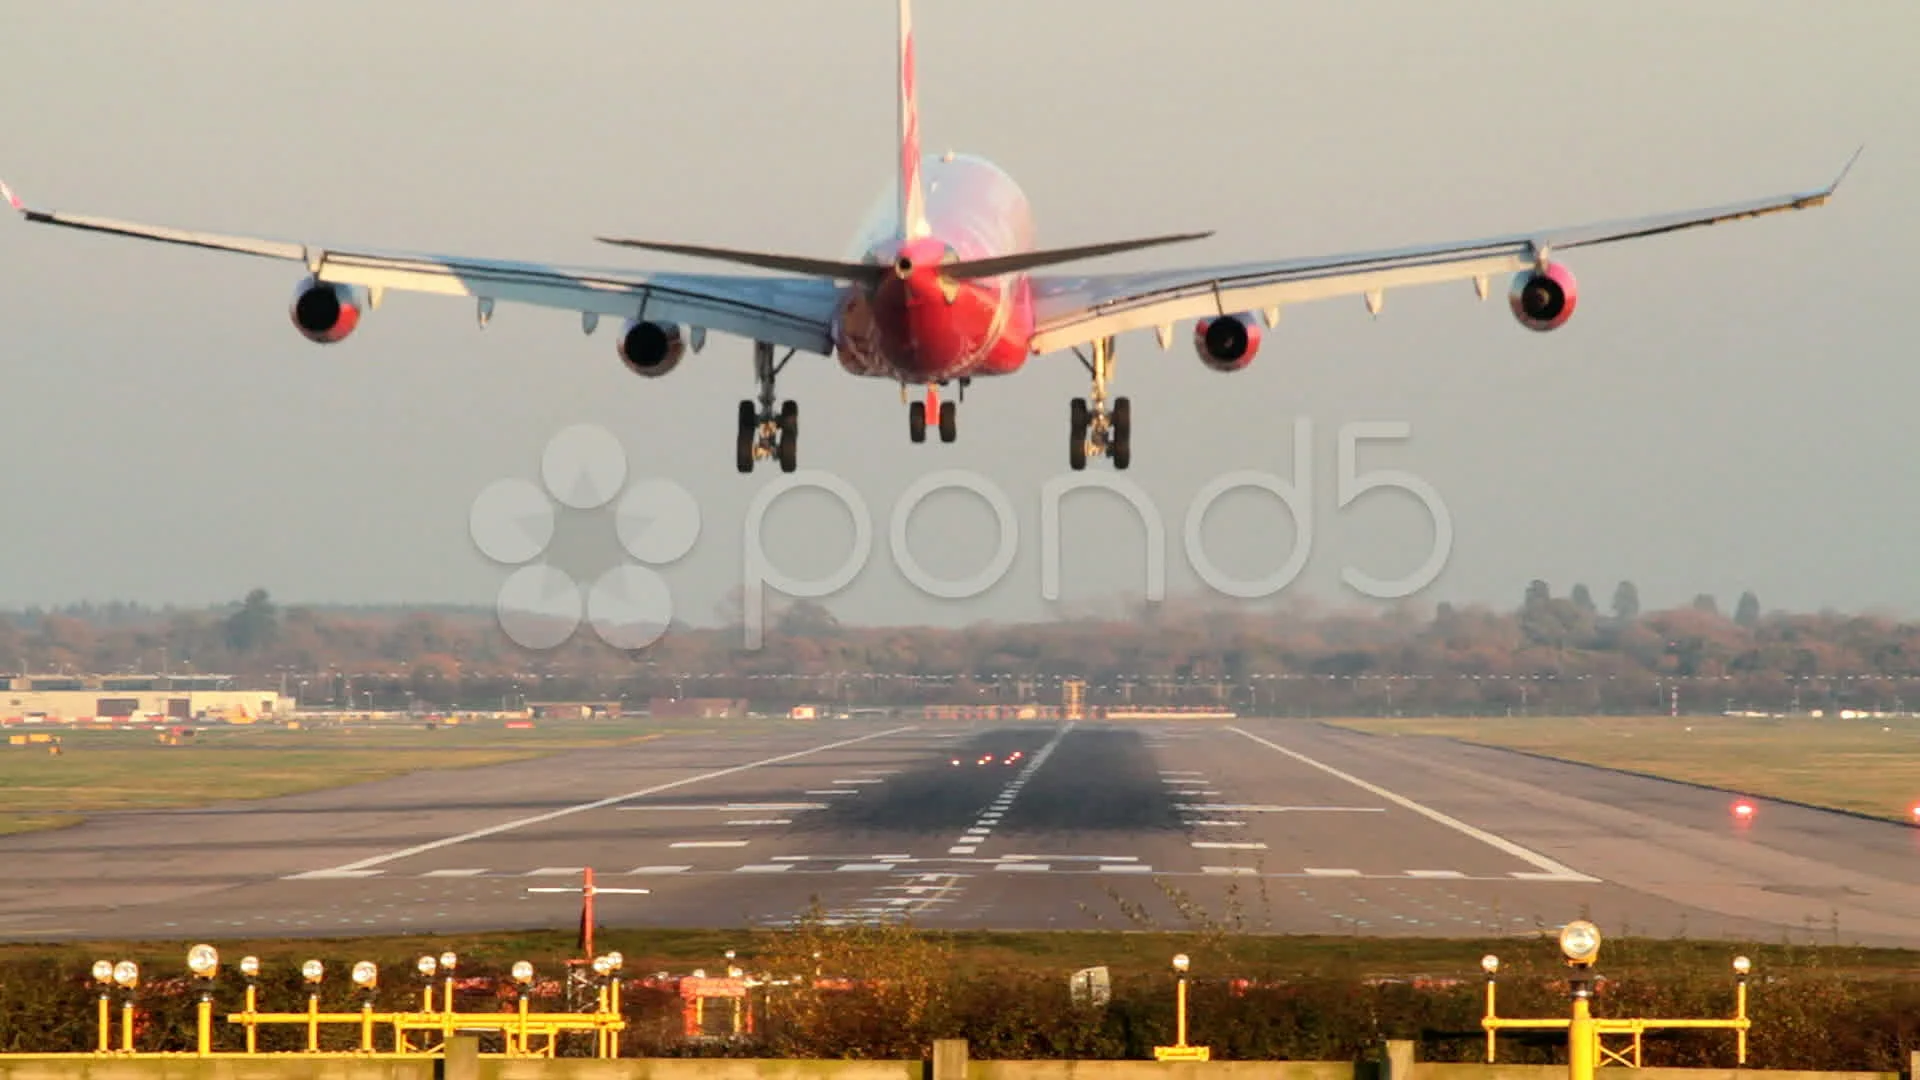
[[[645,650],[582,626],[526,650],[488,607],[278,605],[267,590],[213,607],[69,605],[0,615],[13,673],[219,673],[305,705],[520,707],[543,700],[747,698],[756,707],[1217,703],[1279,715],[1907,711],[1920,696],[1920,623],[1764,611],[1753,592],[1642,611],[1632,582],[1607,609],[1584,584],[1532,580],[1511,609],[1402,603],[1267,609],[1131,603],[1046,623],[841,625],[781,607],[758,650],[730,626],[676,625]]]

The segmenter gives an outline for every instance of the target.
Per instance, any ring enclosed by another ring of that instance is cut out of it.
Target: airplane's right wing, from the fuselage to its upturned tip
[[[1488,277],[1532,269],[1549,252],[1820,206],[1839,188],[1859,156],[1860,152],[1855,150],[1834,183],[1824,188],[1628,221],[1267,263],[1110,275],[1035,275],[1031,279],[1033,352],[1073,348],[1144,327],[1164,329],[1181,319],[1275,311],[1288,304],[1327,300],[1329,296],[1367,294],[1369,304],[1377,306],[1377,294],[1409,284],[1475,279],[1476,290],[1484,296]]]

